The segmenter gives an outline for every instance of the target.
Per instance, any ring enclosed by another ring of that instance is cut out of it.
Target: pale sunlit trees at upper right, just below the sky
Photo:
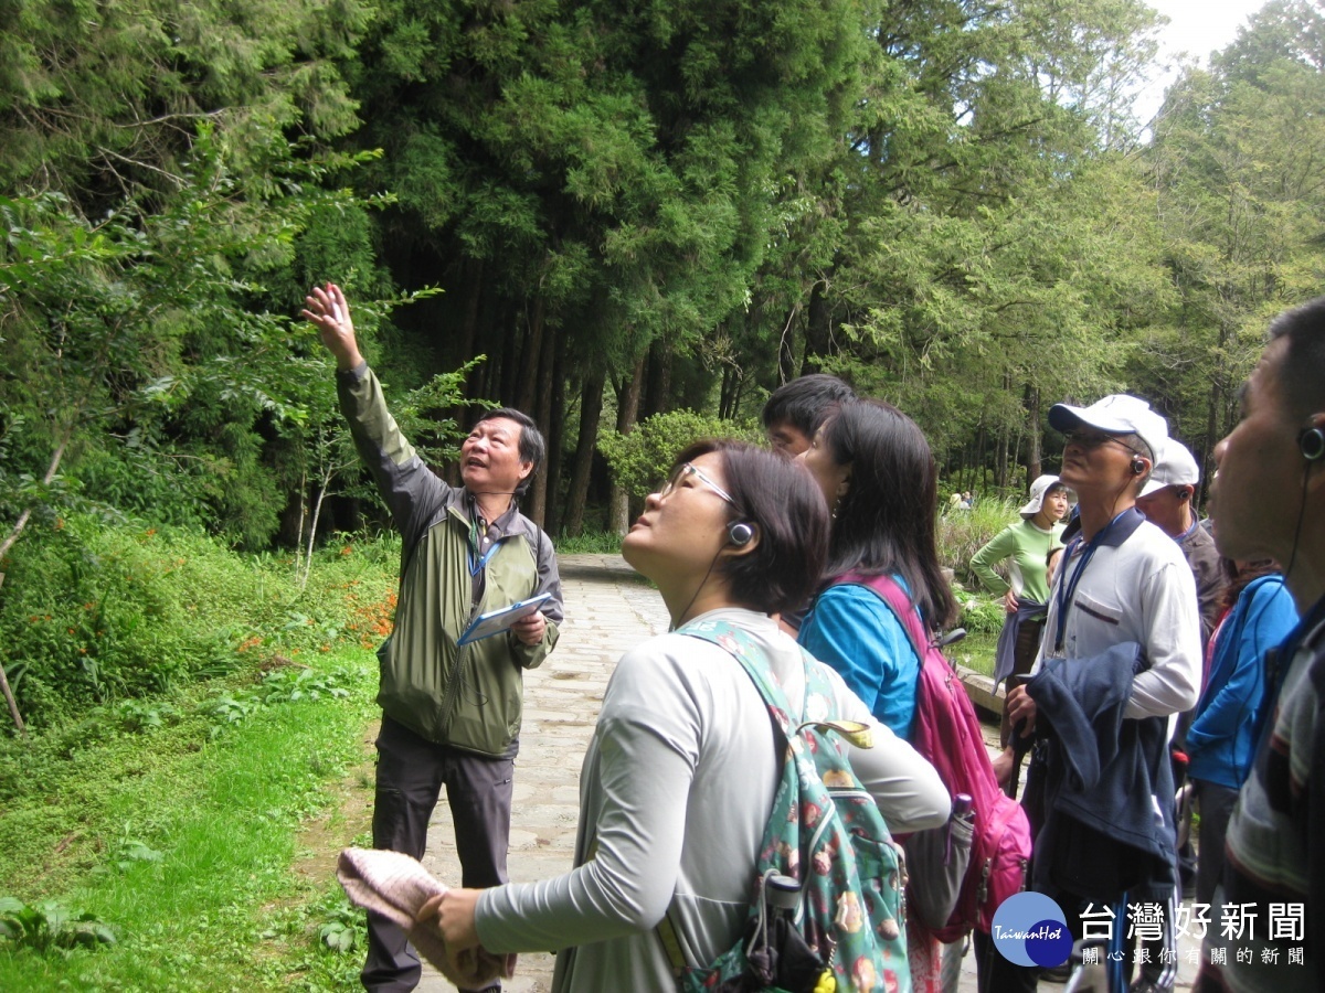
[[[1238,388],[1268,320],[1320,293],[1325,191],[1325,16],[1267,4],[1208,70],[1167,91],[1146,152],[1178,305],[1146,328],[1130,379],[1208,457],[1238,417]],[[1208,466],[1208,462],[1207,462]]]

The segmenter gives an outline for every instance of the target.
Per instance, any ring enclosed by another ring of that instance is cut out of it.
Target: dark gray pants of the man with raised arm
[[[505,883],[514,768],[514,759],[488,759],[437,744],[383,715],[372,847],[423,858],[428,821],[445,785],[456,825],[460,884],[481,888]],[[419,985],[421,973],[419,953],[404,931],[386,918],[368,914],[363,988],[372,993],[408,993]]]

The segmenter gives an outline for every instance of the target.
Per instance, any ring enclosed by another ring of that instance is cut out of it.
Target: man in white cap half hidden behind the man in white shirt
[[[1200,470],[1191,451],[1181,441],[1169,438],[1150,478],[1141,487],[1137,507],[1146,515],[1146,520],[1178,543],[1191,567],[1200,602],[1200,646],[1204,650],[1219,620],[1228,579],[1224,576],[1215,539],[1200,527],[1192,510],[1199,482]]]

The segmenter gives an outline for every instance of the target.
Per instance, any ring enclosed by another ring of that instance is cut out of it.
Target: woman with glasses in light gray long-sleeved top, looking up
[[[657,584],[674,628],[722,621],[755,642],[799,708],[804,657],[770,614],[806,601],[825,544],[823,499],[799,466],[710,441],[680,455],[621,555]],[[829,711],[873,727],[874,747],[852,748],[851,761],[889,826],[943,824],[949,798],[933,767],[827,675]],[[567,949],[555,990],[672,993],[655,928],[666,914],[696,967],[737,941],[778,760],[767,707],[733,655],[676,630],[645,641],[619,662],[584,757],[575,869],[450,890],[437,911],[449,953]]]

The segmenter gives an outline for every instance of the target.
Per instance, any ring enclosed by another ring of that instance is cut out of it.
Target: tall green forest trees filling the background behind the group
[[[299,584],[384,523],[297,318],[322,279],[436,465],[474,406],[535,416],[526,512],[554,536],[623,531],[680,442],[750,432],[811,371],[912,414],[946,490],[1015,495],[1055,465],[1048,405],[1117,389],[1208,469],[1267,320],[1322,282],[1325,16],[1273,0],[1140,122],[1158,24],[1140,0],[5,4],[12,682],[78,654],[24,642],[46,610],[15,575],[66,519],[289,551]]]

